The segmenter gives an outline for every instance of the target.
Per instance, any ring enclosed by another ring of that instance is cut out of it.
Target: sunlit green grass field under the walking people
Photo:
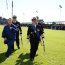
[[[37,56],[34,61],[28,61],[30,44],[26,41],[27,28],[23,27],[23,47],[20,43],[20,50],[15,43],[15,52],[8,58],[5,57],[7,45],[1,37],[3,26],[0,25],[0,65],[65,65],[65,31],[45,29],[45,46],[39,44]]]

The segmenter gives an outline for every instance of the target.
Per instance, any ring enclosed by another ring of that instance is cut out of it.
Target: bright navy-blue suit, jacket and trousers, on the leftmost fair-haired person
[[[6,52],[6,56],[9,56],[12,52],[12,45],[14,44],[16,32],[16,26],[11,24],[10,26],[7,24],[2,32],[2,37],[6,38],[5,42],[7,43],[8,49]]]

